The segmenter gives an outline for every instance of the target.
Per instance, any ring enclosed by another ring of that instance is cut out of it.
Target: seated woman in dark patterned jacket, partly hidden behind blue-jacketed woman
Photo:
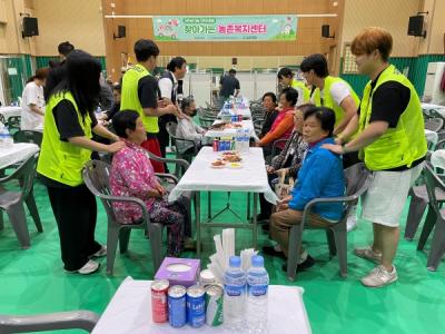
[[[274,188],[278,176],[297,178],[297,173],[301,167],[304,155],[307,150],[307,144],[303,139],[303,117],[306,110],[315,107],[314,105],[306,104],[297,107],[294,115],[294,130],[286,143],[281,153],[276,156],[270,166],[267,167],[267,175],[270,187]],[[273,205],[267,202],[264,194],[259,194],[259,204],[261,213],[258,215],[257,220],[268,220],[271,215]],[[269,225],[263,225],[267,230]]]

